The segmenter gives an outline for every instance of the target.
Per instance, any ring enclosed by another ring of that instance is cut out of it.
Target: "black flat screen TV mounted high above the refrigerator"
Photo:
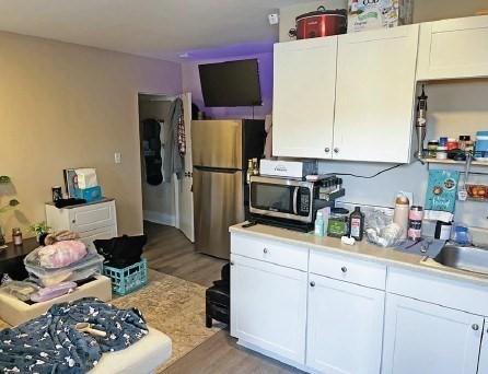
[[[262,105],[257,59],[199,65],[205,106]]]

